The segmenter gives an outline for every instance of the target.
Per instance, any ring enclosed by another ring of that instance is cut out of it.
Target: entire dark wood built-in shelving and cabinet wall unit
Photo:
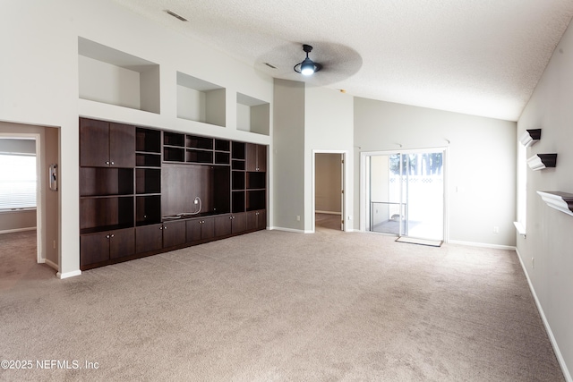
[[[81,269],[266,227],[267,148],[80,118]]]

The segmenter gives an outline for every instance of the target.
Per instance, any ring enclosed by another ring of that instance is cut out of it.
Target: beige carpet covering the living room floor
[[[394,240],[264,231],[66,280],[3,265],[0,357],[34,363],[0,380],[563,380],[515,252]]]

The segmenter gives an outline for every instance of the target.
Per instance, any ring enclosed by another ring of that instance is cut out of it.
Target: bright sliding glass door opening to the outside
[[[363,159],[367,231],[441,243],[445,149],[372,153]]]

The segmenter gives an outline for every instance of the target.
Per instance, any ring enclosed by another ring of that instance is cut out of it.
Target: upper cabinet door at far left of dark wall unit
[[[80,166],[109,166],[109,123],[80,119]]]

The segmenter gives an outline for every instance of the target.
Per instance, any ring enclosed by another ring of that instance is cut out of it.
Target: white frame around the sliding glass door
[[[397,149],[397,150],[383,150],[383,151],[362,151],[360,153],[360,231],[370,232],[366,230],[366,216],[368,216],[368,199],[370,194],[369,186],[369,173],[370,162],[367,160],[369,157],[384,155],[390,156],[394,154],[414,154],[423,153],[432,150],[443,151],[443,175],[444,175],[444,194],[443,194],[443,242],[449,241],[449,147],[435,147],[424,149]]]

